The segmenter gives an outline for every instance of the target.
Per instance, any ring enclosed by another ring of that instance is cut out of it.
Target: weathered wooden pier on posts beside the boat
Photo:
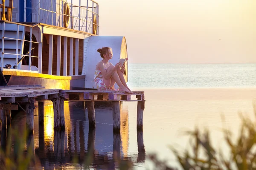
[[[41,85],[0,86],[1,128],[11,124],[10,110],[17,110],[19,103],[26,103],[26,127],[34,130],[35,101],[38,101],[38,121],[44,123],[44,102],[51,100],[54,112],[54,129],[64,129],[64,101],[85,101],[88,110],[89,127],[96,127],[94,102],[111,102],[113,108],[113,130],[120,130],[120,102],[137,102],[137,129],[143,129],[143,111],[145,97],[143,91],[134,94],[119,91],[88,91],[44,89]],[[17,104],[16,104],[17,103]]]

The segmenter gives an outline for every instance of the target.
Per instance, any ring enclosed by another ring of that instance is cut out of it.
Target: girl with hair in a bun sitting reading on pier
[[[132,94],[132,91],[128,88],[123,75],[125,65],[121,65],[121,62],[118,62],[113,66],[111,62],[108,62],[108,60],[112,59],[112,48],[103,47],[99,48],[97,51],[103,59],[96,65],[94,74],[96,88],[101,91],[115,90],[114,85],[116,83],[119,86],[119,91],[125,91]]]

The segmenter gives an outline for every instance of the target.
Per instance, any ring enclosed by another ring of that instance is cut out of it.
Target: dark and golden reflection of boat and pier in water
[[[145,161],[143,132],[137,132],[139,154],[128,154],[128,106],[121,104],[121,129],[113,133],[112,108],[108,103],[96,104],[96,128],[89,128],[88,113],[83,102],[64,104],[65,130],[53,130],[53,108],[45,106],[44,124],[35,116],[34,133],[26,138],[44,169],[74,169],[75,167],[114,169],[122,160]],[[38,109],[35,110],[38,115]],[[12,128],[26,124],[26,114],[13,116]],[[15,144],[16,139],[12,139]],[[6,131],[1,131],[1,147],[6,147]],[[13,152],[13,150],[12,150]],[[134,158],[134,159],[133,159]]]

